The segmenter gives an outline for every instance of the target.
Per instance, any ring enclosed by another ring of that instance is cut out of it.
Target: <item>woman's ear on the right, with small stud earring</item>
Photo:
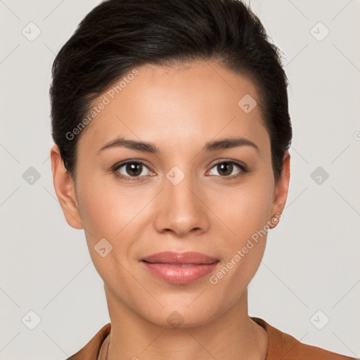
[[[274,201],[271,208],[271,218],[269,219],[270,229],[274,229],[283,214],[286,199],[288,198],[288,189],[290,183],[290,153],[285,151],[283,157],[283,171],[280,179],[275,184]]]

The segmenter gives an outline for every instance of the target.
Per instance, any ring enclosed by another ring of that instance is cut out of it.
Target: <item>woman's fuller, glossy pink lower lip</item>
[[[209,274],[218,264],[194,264],[191,266],[171,266],[160,263],[142,262],[151,274],[173,284],[188,284]]]

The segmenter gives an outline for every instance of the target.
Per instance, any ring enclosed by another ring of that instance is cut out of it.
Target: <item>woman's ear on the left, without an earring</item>
[[[72,177],[65,169],[60,150],[57,145],[51,148],[51,172],[53,173],[53,187],[58,197],[66,221],[74,229],[83,229],[80,218],[77,198],[75,194],[75,185]]]

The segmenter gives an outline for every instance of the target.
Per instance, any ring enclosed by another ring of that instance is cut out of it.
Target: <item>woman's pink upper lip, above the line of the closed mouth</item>
[[[200,252],[157,252],[156,254],[143,257],[141,261],[160,264],[213,264],[219,259],[210,257]]]

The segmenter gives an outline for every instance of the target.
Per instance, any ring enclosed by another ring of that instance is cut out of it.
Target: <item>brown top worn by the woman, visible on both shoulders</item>
[[[263,319],[252,316],[250,319],[262,326],[268,335],[269,343],[265,360],[356,360],[354,357],[303,344],[293,336],[269,325]],[[107,323],[82,349],[66,360],[105,360],[108,353],[110,329],[111,323]]]

